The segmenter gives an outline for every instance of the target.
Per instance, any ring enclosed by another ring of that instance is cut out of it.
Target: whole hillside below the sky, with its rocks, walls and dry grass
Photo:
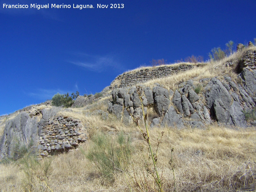
[[[0,189],[42,191],[42,180],[36,177],[41,174],[50,176],[48,185],[54,191],[157,191],[147,145],[132,121],[133,116],[143,125],[139,91],[154,150],[160,132],[165,132],[157,155],[165,191],[174,189],[170,146],[175,148],[178,191],[254,190],[255,56],[256,47],[249,46],[218,61],[138,68],[117,76],[100,94],[79,96],[72,108],[54,107],[48,101],[2,116],[0,158],[11,163],[0,164]],[[111,147],[125,133],[132,151],[126,168],[108,173],[111,177],[102,173],[97,160],[88,158],[102,133]],[[71,153],[63,153],[67,151]],[[28,154],[41,164],[29,173],[32,184],[16,167],[19,159],[30,161]],[[45,173],[47,159],[52,165]]]

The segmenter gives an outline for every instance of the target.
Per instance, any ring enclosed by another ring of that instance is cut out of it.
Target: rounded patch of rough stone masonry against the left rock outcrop
[[[87,137],[81,121],[71,117],[57,116],[44,122],[40,131],[38,157],[78,147]]]

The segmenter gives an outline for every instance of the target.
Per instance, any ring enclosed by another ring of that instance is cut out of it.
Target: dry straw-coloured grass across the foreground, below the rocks
[[[49,186],[52,190],[137,191],[136,188],[139,188],[139,191],[154,191],[155,183],[145,168],[145,162],[148,161],[146,142],[135,127],[120,126],[120,130],[132,138],[134,151],[129,171],[118,173],[115,181],[108,182],[97,174],[81,150],[76,149],[54,157],[49,170]],[[94,130],[94,134],[98,131]],[[100,131],[104,132],[104,129]],[[161,131],[165,133],[163,143],[159,147],[157,164],[165,191],[173,191],[173,176],[168,164],[171,155],[170,145],[174,148],[177,191],[228,191],[255,187],[255,128],[234,130],[211,125],[205,130],[150,129],[153,150],[156,149],[156,139],[159,138]],[[105,133],[107,134],[106,131]],[[86,152],[89,143],[84,143],[80,148]],[[198,151],[199,153],[196,153]],[[3,191],[24,191],[22,186],[25,176],[20,167],[22,166],[15,163],[0,164],[0,188]],[[37,180],[34,183],[39,184]]]

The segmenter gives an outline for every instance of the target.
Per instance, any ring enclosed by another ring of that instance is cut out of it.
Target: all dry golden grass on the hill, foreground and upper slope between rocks
[[[199,82],[202,78],[228,74],[232,81],[237,83],[239,80],[234,73],[236,66],[226,67],[225,63],[239,60],[248,49],[255,50],[255,47],[245,48],[220,60],[208,61],[200,65],[200,68],[195,67],[169,77],[148,81],[144,85],[152,88],[157,82],[167,89],[175,90],[180,83],[193,79],[196,82],[195,92],[199,94],[203,89],[200,88],[202,83]],[[88,125],[90,128],[84,129],[89,137],[88,142],[81,145],[82,150],[70,151],[55,158],[48,157],[39,161],[28,156],[26,151],[29,147],[17,148],[17,151],[21,150],[18,154],[25,151],[25,155],[16,161],[0,163],[0,191],[159,191],[155,170],[158,171],[163,191],[167,192],[255,191],[255,127],[228,129],[212,123],[206,125],[204,130],[175,127],[148,129],[152,151],[157,150],[157,138],[161,138],[161,132],[165,132],[157,155],[153,153],[154,159],[157,157],[157,167],[154,168],[152,155],[148,150],[148,137],[146,136],[145,142],[145,137],[143,139],[143,135],[141,137],[140,132],[134,129],[134,124],[124,124],[112,114],[109,114],[108,120],[102,120],[99,115],[90,115],[90,112],[96,109],[107,111],[108,99],[111,98],[102,97],[86,108],[58,112],[58,115],[72,116]],[[152,119],[156,113],[153,109],[149,110],[152,110],[148,112],[149,118]],[[247,121],[255,120],[255,110],[253,108],[244,111]],[[8,116],[1,121],[6,122],[10,118]],[[1,130],[3,128],[1,122]],[[123,141],[119,141],[120,135],[123,135]],[[97,145],[99,137],[105,137],[103,140],[107,141],[107,144],[104,144],[108,146],[105,152],[102,150],[104,147]],[[175,150],[172,151],[170,145]],[[125,155],[120,155],[122,146],[126,148],[124,151],[130,149],[128,153],[124,152],[129,154],[126,156],[129,157],[128,160],[123,158]],[[84,156],[93,151],[92,161]],[[103,159],[108,162],[108,166],[101,162]],[[96,164],[102,164],[99,166],[100,169],[95,169],[93,165]],[[99,170],[103,170],[103,173]],[[152,173],[155,177],[151,176]]]

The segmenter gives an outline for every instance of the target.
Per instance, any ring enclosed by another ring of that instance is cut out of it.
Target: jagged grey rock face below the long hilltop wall
[[[149,122],[150,126],[160,124],[161,126],[181,127],[186,124],[192,128],[204,128],[204,125],[211,123],[212,120],[227,126],[247,127],[250,125],[245,120],[244,111],[251,110],[255,107],[256,102],[254,52],[246,52],[242,60],[249,57],[251,64],[243,68],[238,75],[242,84],[236,84],[227,75],[221,78],[200,79],[199,83],[204,86],[206,84],[204,93],[201,93],[200,96],[194,91],[196,87],[192,79],[179,84],[178,89],[174,92],[165,89],[158,83],[155,83],[156,86],[152,89],[142,87],[143,106],[154,108],[158,115],[152,119],[151,124]],[[127,89],[112,90],[113,100],[118,102],[114,104],[115,110],[113,110],[113,104],[110,103],[108,111],[116,114],[118,119],[122,120],[123,118],[123,122],[126,123],[131,122],[126,107],[130,109],[132,116],[142,118],[141,102],[136,89],[136,87],[128,87]],[[127,99],[123,101],[119,97]],[[126,102],[125,108],[123,108],[123,102]]]

